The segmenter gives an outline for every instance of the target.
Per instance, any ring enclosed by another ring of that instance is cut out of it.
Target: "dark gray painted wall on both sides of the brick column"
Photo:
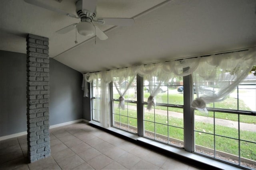
[[[0,51],[0,78],[0,136],[24,132],[26,54]],[[50,125],[82,119],[81,85],[80,72],[50,59]]]

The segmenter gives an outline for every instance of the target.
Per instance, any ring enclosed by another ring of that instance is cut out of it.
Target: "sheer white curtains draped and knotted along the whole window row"
[[[100,122],[103,127],[109,126],[110,119],[110,97],[109,83],[113,82],[120,95],[119,106],[124,108],[124,95],[133,78],[140,75],[148,81],[150,97],[147,109],[156,105],[156,96],[160,87],[174,76],[187,76],[192,74],[197,98],[192,101],[191,106],[201,111],[206,110],[206,104],[224,100],[248,75],[252,67],[256,65],[256,48],[246,51],[232,52],[208,57],[196,57],[179,61],[168,61],[155,64],[146,64],[128,68],[120,68],[97,73],[84,74],[84,96],[88,96],[87,82],[96,80],[100,104],[97,109],[100,113]],[[98,79],[98,83],[97,83]],[[122,84],[126,80],[125,86]],[[208,90],[203,82],[211,82],[218,89]],[[122,86],[121,86],[122,84]],[[147,84],[145,84],[147,86]],[[98,101],[98,100],[97,100]]]

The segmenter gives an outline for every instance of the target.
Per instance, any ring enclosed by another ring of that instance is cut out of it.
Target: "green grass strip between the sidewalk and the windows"
[[[137,127],[137,112],[136,110],[120,110],[115,107],[115,113],[120,115],[114,115],[114,120],[126,125]],[[151,121],[155,121],[151,122]],[[160,124],[161,123],[161,124]],[[144,113],[144,129],[147,131],[156,132],[158,134],[179,139],[184,141],[183,134],[183,119],[175,117],[167,117],[165,115],[158,115],[152,113]],[[168,126],[169,125],[169,126]],[[168,129],[169,128],[169,129]],[[196,145],[201,145],[214,149],[214,126],[210,123],[195,122],[195,142]],[[206,134],[210,133],[210,134]],[[238,155],[238,129],[231,127],[224,127],[215,125],[215,134],[225,137],[216,136],[216,150],[228,152],[230,154]],[[226,137],[232,137],[234,139],[228,139]],[[250,131],[240,131],[240,139],[246,141],[256,141],[256,133]],[[244,158],[255,160],[256,158],[256,144],[248,142],[240,142],[241,156]]]

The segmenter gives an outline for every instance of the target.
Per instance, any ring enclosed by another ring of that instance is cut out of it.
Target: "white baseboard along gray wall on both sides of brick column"
[[[72,124],[72,123],[77,123],[77,122],[80,122],[80,121],[84,121],[86,123],[89,122],[86,119],[77,119],[77,120],[74,120],[74,121],[68,121],[68,122],[65,122],[65,123],[51,125],[50,129],[55,128],[55,127],[61,127],[61,126],[69,125],[69,124]],[[2,136],[2,137],[0,137],[0,141],[6,140],[6,139],[10,139],[10,138],[13,138],[13,137],[19,137],[19,136],[22,136],[22,135],[27,135],[27,134],[28,134],[28,132],[24,131],[24,132],[20,132],[20,133],[14,133],[12,135]]]

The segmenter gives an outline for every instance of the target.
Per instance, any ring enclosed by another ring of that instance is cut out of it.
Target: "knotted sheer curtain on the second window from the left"
[[[121,107],[122,109],[125,109],[124,95],[130,86],[132,86],[132,82],[134,81],[136,75],[137,72],[136,68],[134,67],[113,70],[113,84],[116,87],[118,94],[120,95],[118,107]]]

